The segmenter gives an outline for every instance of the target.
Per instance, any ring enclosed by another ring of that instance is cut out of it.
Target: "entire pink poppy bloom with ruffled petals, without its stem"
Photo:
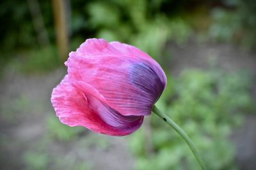
[[[63,124],[124,136],[136,131],[166,86],[159,64],[138,48],[87,39],[71,52],[68,74],[52,91]]]

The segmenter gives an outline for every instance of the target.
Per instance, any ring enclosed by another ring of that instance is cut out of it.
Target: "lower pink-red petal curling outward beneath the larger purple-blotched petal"
[[[66,75],[60,85],[52,91],[52,106],[63,124],[83,126],[94,132],[112,136],[130,134],[136,131],[142,124],[143,117],[132,118],[131,122],[128,121],[130,124],[125,121],[124,117],[119,119],[111,117],[111,115],[120,116],[120,113],[102,102],[101,99],[104,98],[101,98],[102,96],[99,96],[97,91],[95,92],[88,87],[84,88],[84,84],[81,85],[81,83],[75,84],[77,87],[80,86],[80,88],[74,87]],[[93,92],[94,96],[90,92]],[[103,117],[102,115],[109,116]],[[124,122],[122,122],[123,119]],[[127,118],[127,120],[130,119]],[[115,121],[121,122],[116,124]]]

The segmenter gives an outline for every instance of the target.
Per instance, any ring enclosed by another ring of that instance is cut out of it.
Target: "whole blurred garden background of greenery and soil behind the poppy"
[[[256,169],[256,1],[28,0],[0,3],[0,169],[196,170],[152,115],[130,136],[59,122],[51,91],[87,38],[135,45],[163,66],[157,102],[213,170]]]

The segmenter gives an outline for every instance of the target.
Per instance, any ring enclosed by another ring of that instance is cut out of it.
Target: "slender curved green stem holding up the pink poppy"
[[[206,167],[204,165],[203,160],[200,158],[198,152],[196,152],[196,148],[195,145],[193,144],[193,142],[191,141],[191,139],[188,137],[188,135],[179,127],[179,125],[175,124],[175,122],[173,122],[172,119],[170,119],[169,117],[167,117],[162,111],[160,111],[156,106],[153,107],[152,111],[154,113],[156,113],[156,115],[158,117],[160,117],[161,119],[164,120],[164,122],[166,122],[168,125],[170,125],[171,127],[173,127],[173,129],[178,132],[180,134],[180,136],[186,141],[186,143],[188,144],[190,150],[193,152],[196,161],[198,162],[199,166],[201,167],[202,170],[205,170]]]

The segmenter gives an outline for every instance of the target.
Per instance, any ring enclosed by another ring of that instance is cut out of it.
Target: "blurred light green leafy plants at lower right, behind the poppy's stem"
[[[188,133],[209,169],[237,169],[230,134],[243,123],[242,113],[253,108],[251,84],[244,73],[184,71],[170,80],[157,106]],[[186,143],[162,121],[152,115],[152,141],[144,131],[132,136],[136,169],[198,169]],[[150,142],[153,153],[145,148]]]

